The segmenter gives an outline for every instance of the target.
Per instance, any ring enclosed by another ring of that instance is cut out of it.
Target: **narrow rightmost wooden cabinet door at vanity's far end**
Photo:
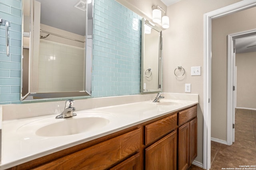
[[[189,122],[189,164],[195,160],[197,156],[197,118]]]

